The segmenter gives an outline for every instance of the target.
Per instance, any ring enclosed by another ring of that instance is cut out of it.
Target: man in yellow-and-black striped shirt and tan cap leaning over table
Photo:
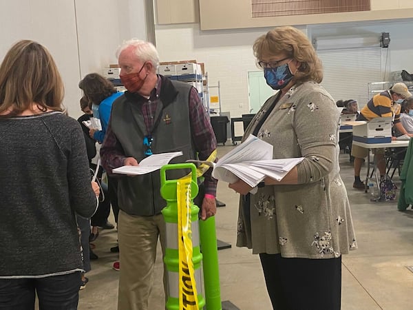
[[[405,128],[400,122],[400,104],[406,99],[411,97],[412,94],[407,90],[407,86],[404,83],[394,84],[390,90],[385,90],[380,94],[373,96],[372,99],[361,109],[357,121],[370,121],[372,118],[377,117],[392,117],[394,127],[396,127],[401,134],[407,134],[413,136],[413,134],[407,133]],[[379,169],[380,176],[385,175],[385,149],[374,150],[374,161]],[[358,145],[352,145],[351,155],[354,156],[354,183],[353,187],[357,189],[365,189],[364,183],[360,180],[361,165],[363,164],[363,158],[368,156],[368,149],[359,147]]]

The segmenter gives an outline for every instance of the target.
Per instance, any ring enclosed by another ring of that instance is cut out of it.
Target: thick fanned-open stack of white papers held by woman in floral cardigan
[[[273,158],[273,145],[250,135],[231,152],[222,156],[218,163],[206,163],[213,167],[212,176],[227,183],[243,180],[251,187],[255,187],[266,176],[275,180],[282,180],[295,165],[301,163],[304,157],[299,158]]]

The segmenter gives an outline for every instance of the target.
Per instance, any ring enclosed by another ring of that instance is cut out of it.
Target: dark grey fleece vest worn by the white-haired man
[[[161,76],[160,101],[154,116],[151,132],[153,154],[182,151],[171,163],[184,163],[195,157],[189,122],[189,94],[191,85],[171,81]],[[140,105],[128,92],[121,96],[112,108],[112,130],[116,134],[126,157],[134,157],[138,163],[145,158],[147,147],[143,138],[148,134]],[[188,171],[169,170],[167,179],[178,179]],[[142,176],[121,176],[118,182],[118,203],[127,214],[153,216],[166,206],[160,196],[159,170]]]

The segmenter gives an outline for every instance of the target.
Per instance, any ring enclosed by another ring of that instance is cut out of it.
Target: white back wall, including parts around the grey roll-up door
[[[209,84],[216,85],[220,81],[222,111],[230,111],[231,117],[237,117],[249,112],[248,71],[258,70],[253,56],[253,42],[268,29],[202,31],[198,24],[158,25],[156,44],[161,61],[196,59],[205,63]],[[308,25],[301,28],[312,37],[349,34],[379,37],[381,32],[390,32],[388,73],[402,69],[413,73],[412,29],[413,19]]]

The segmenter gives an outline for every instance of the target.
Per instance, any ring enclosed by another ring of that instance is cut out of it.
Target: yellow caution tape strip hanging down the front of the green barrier
[[[198,310],[198,293],[192,261],[191,176],[176,183],[179,242],[179,304],[183,310]]]

